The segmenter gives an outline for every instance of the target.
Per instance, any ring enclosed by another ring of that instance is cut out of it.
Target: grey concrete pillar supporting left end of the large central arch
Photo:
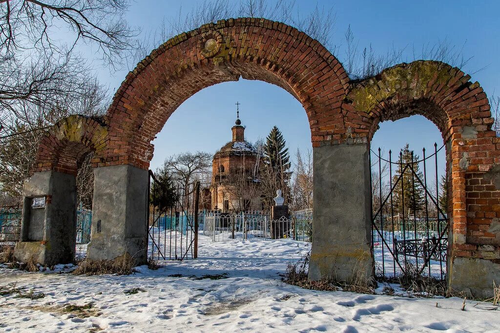
[[[147,170],[131,165],[94,168],[92,231],[87,258],[146,258]]]

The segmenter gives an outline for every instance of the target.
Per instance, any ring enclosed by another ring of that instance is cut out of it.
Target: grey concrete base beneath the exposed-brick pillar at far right
[[[465,291],[476,298],[493,297],[493,281],[500,285],[500,262],[464,257],[450,260],[447,277],[450,291]]]

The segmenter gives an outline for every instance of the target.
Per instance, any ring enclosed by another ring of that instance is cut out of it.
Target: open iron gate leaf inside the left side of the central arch
[[[165,204],[171,201],[173,204]],[[168,196],[168,197],[166,197]],[[198,256],[199,182],[177,186],[174,193],[149,170],[147,195],[147,253],[157,260]]]

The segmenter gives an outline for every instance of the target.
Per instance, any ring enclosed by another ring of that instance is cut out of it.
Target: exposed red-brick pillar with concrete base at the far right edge
[[[481,126],[452,135],[447,282],[488,298],[500,284],[500,138]]]

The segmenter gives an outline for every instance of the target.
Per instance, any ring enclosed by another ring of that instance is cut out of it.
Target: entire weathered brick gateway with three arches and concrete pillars
[[[319,42],[266,19],[205,24],[153,50],[128,73],[102,120],[71,116],[47,133],[38,149],[33,193],[55,184],[43,172],[62,179],[74,173],[84,150],[95,150],[88,256],[128,255],[143,263],[150,142],[185,99],[239,77],[284,88],[306,111],[314,168],[311,279],[370,278],[369,142],[380,121],[422,114],[449,142],[449,286],[488,294],[491,278],[500,275],[500,138],[491,130],[479,84],[436,61],[402,63],[350,81]],[[56,195],[64,198],[61,191]],[[28,224],[23,217],[23,227]],[[34,248],[27,242],[16,246],[19,256]],[[44,244],[37,250],[45,250]]]

